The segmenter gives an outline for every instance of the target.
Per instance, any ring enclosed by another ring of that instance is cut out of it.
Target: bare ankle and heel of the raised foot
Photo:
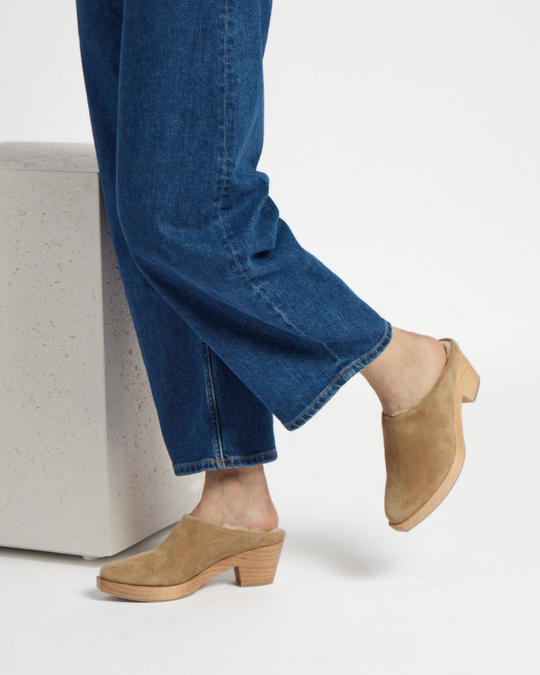
[[[388,347],[361,373],[379,397],[383,414],[394,415],[433,389],[446,361],[446,349],[435,338],[392,327]]]

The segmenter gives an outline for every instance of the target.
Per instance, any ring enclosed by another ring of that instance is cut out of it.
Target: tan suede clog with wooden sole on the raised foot
[[[434,511],[456,482],[465,459],[461,404],[474,401],[480,385],[457,343],[439,342],[448,359],[433,389],[409,410],[382,415],[385,512],[402,532]]]

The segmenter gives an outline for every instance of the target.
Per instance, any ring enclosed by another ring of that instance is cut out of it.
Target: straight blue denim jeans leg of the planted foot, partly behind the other
[[[177,475],[276,459],[271,412],[147,281],[116,208],[116,120],[123,2],[77,5],[81,49],[111,236]]]

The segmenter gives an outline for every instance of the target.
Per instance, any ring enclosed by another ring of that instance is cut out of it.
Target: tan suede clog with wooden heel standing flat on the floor
[[[104,565],[97,587],[128,600],[176,600],[232,568],[240,586],[271,584],[284,538],[280,528],[220,527],[186,514],[152,550]]]

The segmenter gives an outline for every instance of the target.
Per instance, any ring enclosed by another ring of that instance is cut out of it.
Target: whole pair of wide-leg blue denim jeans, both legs
[[[257,170],[271,0],[77,0],[100,180],[177,475],[276,459],[389,344]]]

